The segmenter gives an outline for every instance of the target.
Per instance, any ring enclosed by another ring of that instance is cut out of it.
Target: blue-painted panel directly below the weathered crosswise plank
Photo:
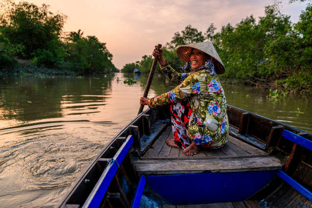
[[[263,189],[276,170],[148,175],[148,186],[173,204],[243,201]]]

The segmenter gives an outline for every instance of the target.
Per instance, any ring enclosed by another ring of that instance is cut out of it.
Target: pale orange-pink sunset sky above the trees
[[[3,0],[0,0],[3,1]],[[20,2],[20,1],[15,1]],[[264,15],[264,7],[273,0],[235,0],[235,1],[189,1],[189,0],[29,0],[36,5],[50,5],[53,12],[67,15],[65,32],[81,29],[84,36],[94,35],[106,42],[113,63],[121,69],[126,63],[141,60],[143,55],[151,54],[153,46],[169,42],[175,32],[185,29],[186,25],[203,33],[211,23],[217,31],[222,25],[235,25],[242,18]],[[297,22],[301,10],[309,1],[289,4],[282,1],[282,14],[291,15]]]

